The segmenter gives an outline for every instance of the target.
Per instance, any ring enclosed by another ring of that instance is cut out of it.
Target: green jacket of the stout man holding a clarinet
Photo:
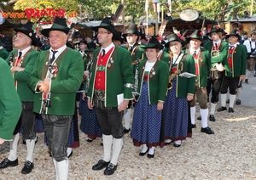
[[[49,50],[39,53],[34,69],[28,78],[28,85],[36,92],[34,111],[42,112],[42,96],[38,91],[38,82],[43,81],[48,71]],[[50,82],[50,104],[48,115],[73,115],[75,110],[76,92],[82,82],[84,74],[84,60],[78,51],[66,48],[57,59],[56,76]]]

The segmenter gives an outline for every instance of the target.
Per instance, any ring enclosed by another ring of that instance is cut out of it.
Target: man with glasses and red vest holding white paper
[[[88,91],[88,108],[96,106],[96,115],[102,130],[104,157],[92,169],[102,170],[111,175],[117,168],[117,161],[123,145],[122,116],[132,100],[134,76],[131,66],[131,53],[114,46],[112,39],[118,37],[113,20],[105,18],[96,31],[102,48],[93,55],[93,66]],[[118,96],[119,95],[119,96]],[[120,98],[118,98],[120,97]],[[113,154],[111,157],[111,149]]]

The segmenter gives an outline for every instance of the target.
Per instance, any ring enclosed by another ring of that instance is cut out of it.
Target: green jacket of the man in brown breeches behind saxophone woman
[[[207,76],[211,70],[211,55],[205,48],[200,48],[199,63],[199,87],[207,87]],[[185,49],[184,53],[189,53],[189,48]]]

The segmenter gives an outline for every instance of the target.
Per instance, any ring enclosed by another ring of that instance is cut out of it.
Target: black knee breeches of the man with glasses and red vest
[[[104,105],[105,101],[94,98],[96,107],[96,115],[102,133],[105,135],[112,135],[113,138],[123,138],[123,111],[119,112],[117,107],[108,108]]]

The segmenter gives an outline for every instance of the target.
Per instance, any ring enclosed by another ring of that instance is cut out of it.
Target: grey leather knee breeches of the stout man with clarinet
[[[42,115],[48,148],[52,157],[60,162],[67,159],[67,141],[72,115]]]

